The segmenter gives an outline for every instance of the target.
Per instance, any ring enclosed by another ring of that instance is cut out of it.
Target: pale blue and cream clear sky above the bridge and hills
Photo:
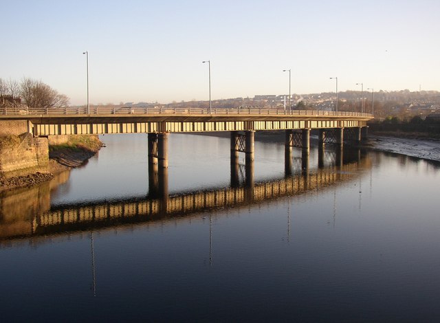
[[[70,104],[440,90],[439,0],[0,0],[0,78]]]

